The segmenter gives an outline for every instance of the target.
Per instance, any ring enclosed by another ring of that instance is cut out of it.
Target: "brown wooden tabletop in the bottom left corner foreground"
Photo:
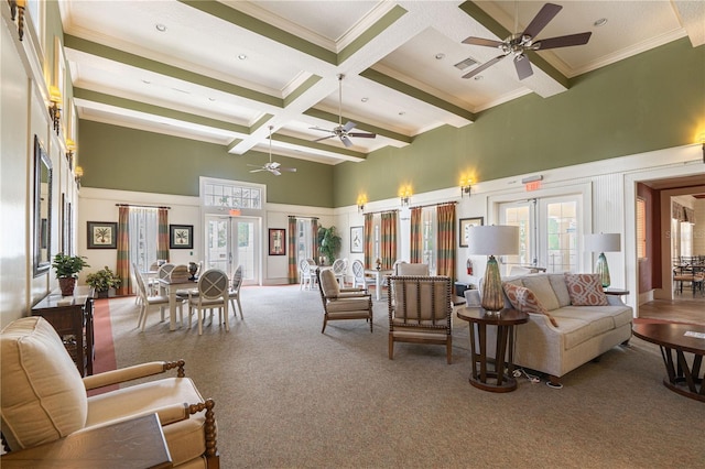
[[[3,469],[171,468],[172,457],[156,414],[78,432],[52,443],[3,455]]]

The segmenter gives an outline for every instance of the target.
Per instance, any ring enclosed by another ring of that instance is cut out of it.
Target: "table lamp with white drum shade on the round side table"
[[[480,226],[468,230],[468,254],[489,255],[482,281],[482,309],[495,314],[505,307],[502,281],[495,255],[519,254],[519,227]]]

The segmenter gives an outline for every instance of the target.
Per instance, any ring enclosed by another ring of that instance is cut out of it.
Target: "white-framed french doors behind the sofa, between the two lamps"
[[[519,227],[519,254],[503,257],[505,265],[577,272],[579,210],[577,195],[500,204],[500,225]]]

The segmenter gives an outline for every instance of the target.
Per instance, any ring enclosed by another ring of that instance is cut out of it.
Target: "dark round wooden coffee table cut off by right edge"
[[[634,324],[634,336],[661,347],[666,378],[673,392],[705,402],[705,377],[701,374],[705,355],[705,327],[690,324]],[[685,353],[693,353],[688,363]]]

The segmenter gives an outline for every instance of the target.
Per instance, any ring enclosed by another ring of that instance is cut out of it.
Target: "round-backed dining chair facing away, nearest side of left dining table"
[[[213,324],[213,309],[218,308],[218,319],[225,320],[225,330],[230,330],[228,318],[228,276],[218,269],[209,269],[198,277],[198,294],[188,294],[188,328],[193,310],[198,312],[198,335],[203,334],[204,310],[210,309],[210,323]]]

